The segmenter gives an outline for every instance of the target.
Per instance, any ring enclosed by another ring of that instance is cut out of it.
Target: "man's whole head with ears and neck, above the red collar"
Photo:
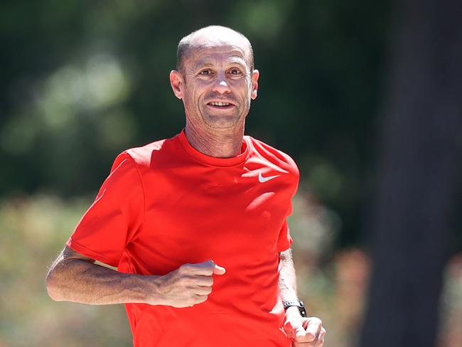
[[[239,154],[259,78],[247,38],[230,28],[202,28],[178,44],[177,66],[171,85],[183,100],[191,146],[217,158]]]

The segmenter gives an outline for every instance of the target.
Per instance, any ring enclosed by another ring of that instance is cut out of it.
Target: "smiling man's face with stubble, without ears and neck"
[[[193,38],[181,69],[189,122],[213,129],[243,127],[252,91],[250,50],[248,41],[235,32],[224,36],[202,33]],[[213,102],[230,106],[218,107]]]

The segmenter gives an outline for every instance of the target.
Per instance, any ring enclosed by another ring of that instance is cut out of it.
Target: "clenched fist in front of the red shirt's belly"
[[[159,277],[160,302],[173,307],[188,307],[207,300],[212,292],[213,274],[225,274],[225,268],[208,260],[198,264],[184,264]]]

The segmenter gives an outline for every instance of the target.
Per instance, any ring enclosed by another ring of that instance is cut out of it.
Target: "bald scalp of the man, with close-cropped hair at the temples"
[[[176,70],[183,70],[183,63],[194,48],[207,48],[216,46],[238,46],[245,51],[250,70],[254,70],[254,53],[250,41],[242,33],[226,26],[206,26],[193,31],[178,43],[176,52]]]

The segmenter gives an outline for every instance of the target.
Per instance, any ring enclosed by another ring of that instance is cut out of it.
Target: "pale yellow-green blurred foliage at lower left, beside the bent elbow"
[[[52,301],[45,274],[90,202],[51,196],[0,203],[0,346],[129,346],[122,305]]]

